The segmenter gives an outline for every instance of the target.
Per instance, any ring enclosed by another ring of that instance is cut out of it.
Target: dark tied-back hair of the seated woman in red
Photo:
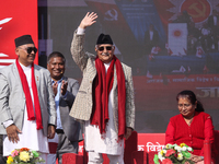
[[[178,102],[178,99],[181,97],[188,98],[193,105],[195,105],[196,102],[197,102],[197,107],[195,108],[196,112],[204,112],[205,110],[204,107],[203,107],[203,104],[199,101],[197,101],[196,95],[193,91],[184,90],[184,91],[180,92],[176,96],[176,101]]]

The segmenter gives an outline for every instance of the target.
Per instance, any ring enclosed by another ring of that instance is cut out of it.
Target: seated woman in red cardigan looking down
[[[165,143],[185,143],[194,149],[191,160],[197,164],[204,164],[204,140],[211,143],[211,163],[215,163],[216,149],[214,147],[215,134],[210,115],[204,113],[203,105],[196,99],[192,91],[182,91],[176,96],[180,115],[170,119]]]

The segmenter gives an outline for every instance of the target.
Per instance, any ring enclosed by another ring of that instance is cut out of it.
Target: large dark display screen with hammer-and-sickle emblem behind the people
[[[99,17],[87,28],[85,50],[95,54],[97,36],[110,34],[115,55],[132,68],[138,132],[165,132],[182,90],[195,92],[219,130],[218,0],[38,0],[39,65],[58,50],[66,75],[81,81],[70,44],[92,11]]]

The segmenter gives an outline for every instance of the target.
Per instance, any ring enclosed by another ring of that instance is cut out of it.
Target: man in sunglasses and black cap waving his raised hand
[[[87,13],[71,43],[83,79],[70,116],[84,121],[89,164],[103,163],[103,153],[112,164],[124,164],[124,138],[129,138],[135,125],[131,68],[116,58],[110,35],[99,36],[96,56],[84,51],[85,28],[96,19],[96,13]]]

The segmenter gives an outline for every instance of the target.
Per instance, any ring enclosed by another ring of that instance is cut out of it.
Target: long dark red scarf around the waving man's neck
[[[94,105],[91,117],[91,125],[100,128],[100,133],[106,132],[108,121],[108,95],[113,87],[114,65],[116,66],[117,91],[118,91],[118,138],[123,139],[126,132],[126,84],[120,61],[114,56],[111,66],[105,73],[104,63],[96,57],[95,68],[97,74],[94,80]]]

